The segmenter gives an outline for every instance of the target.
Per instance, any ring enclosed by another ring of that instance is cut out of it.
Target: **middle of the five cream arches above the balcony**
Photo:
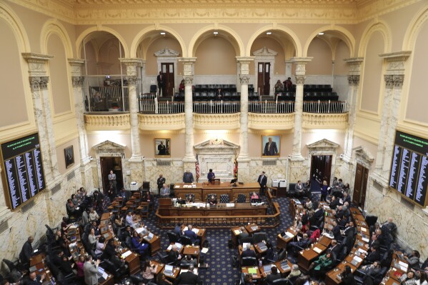
[[[227,34],[229,34],[229,36],[232,36],[232,39],[235,40],[235,42],[233,42],[233,41],[230,41],[228,39],[230,41],[230,43],[232,44],[232,46],[234,46],[234,49],[236,51],[237,56],[244,56],[244,44],[242,43],[242,39],[239,37],[237,32],[235,32],[233,29],[230,29],[227,26],[214,24],[214,25],[205,26],[204,28],[197,31],[196,34],[194,34],[194,36],[193,36],[193,38],[191,38],[191,41],[189,44],[189,52],[188,52],[189,57],[195,56],[196,49],[201,42],[201,38],[207,31],[225,31],[225,32],[227,32]]]

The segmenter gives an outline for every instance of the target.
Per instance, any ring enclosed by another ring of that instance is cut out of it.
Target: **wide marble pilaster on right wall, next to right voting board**
[[[376,166],[374,177],[387,188],[389,184],[389,171],[391,168],[392,148],[394,146],[395,130],[397,129],[399,106],[402,96],[404,80],[404,64],[411,51],[398,51],[388,54],[379,54],[387,69],[384,74],[385,91],[382,121],[379,130],[379,144],[377,146]]]

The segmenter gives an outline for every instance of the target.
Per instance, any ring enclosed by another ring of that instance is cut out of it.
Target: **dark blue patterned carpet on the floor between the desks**
[[[317,194],[313,195],[313,201],[319,200]],[[277,245],[276,236],[279,232],[285,231],[292,224],[292,216],[289,214],[289,199],[277,198],[274,199],[279,203],[281,209],[281,224],[275,229],[264,229],[267,233],[269,241],[274,248]],[[157,207],[157,201],[155,211]],[[154,212],[155,212],[154,211]],[[154,212],[149,214],[149,219],[146,220],[147,227],[154,233],[161,236],[161,248],[166,249],[169,246],[167,230],[158,229],[156,227],[156,216]],[[232,267],[232,256],[237,256],[237,249],[229,249],[227,244],[231,239],[230,229],[207,229],[206,239],[209,241],[209,251],[206,253],[206,263],[208,269],[199,270],[199,276],[204,285],[233,285],[235,280],[240,276],[239,268]]]

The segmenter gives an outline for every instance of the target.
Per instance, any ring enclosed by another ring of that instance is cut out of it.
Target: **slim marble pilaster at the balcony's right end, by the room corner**
[[[359,89],[359,75],[361,64],[363,61],[362,57],[344,59],[349,64],[349,75],[348,75],[348,100],[347,100],[347,111],[348,111],[348,127],[347,134],[344,141],[344,156],[343,160],[350,163],[352,159],[352,148],[354,147],[354,129],[355,119],[357,116],[357,96]]]

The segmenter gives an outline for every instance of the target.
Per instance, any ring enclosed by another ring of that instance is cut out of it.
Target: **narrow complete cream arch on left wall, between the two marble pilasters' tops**
[[[51,34],[56,34],[61,39],[66,50],[66,56],[70,59],[73,57],[73,47],[66,29],[58,20],[50,19],[41,28],[40,33],[40,50],[42,54],[48,53],[48,41]]]

